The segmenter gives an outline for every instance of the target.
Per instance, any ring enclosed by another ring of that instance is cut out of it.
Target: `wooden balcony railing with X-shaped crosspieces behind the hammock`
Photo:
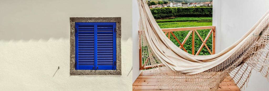
[[[210,29],[210,31],[208,32],[207,36],[205,39],[203,39],[200,34],[197,31],[204,31],[206,29]],[[185,52],[187,52],[186,48],[184,47],[184,44],[186,43],[187,39],[190,37],[190,35],[192,34],[192,54],[194,55],[199,55],[201,50],[203,49],[203,47],[205,46],[206,49],[208,50],[208,52],[210,54],[215,54],[215,26],[204,26],[204,27],[184,27],[184,28],[165,28],[162,29],[162,31],[165,33],[165,35],[168,35],[168,38],[171,39],[171,35],[175,38],[175,40],[179,43],[179,48],[183,49]],[[176,35],[173,32],[176,31],[189,31],[189,33],[187,34],[187,36],[185,37],[185,39],[183,40],[183,42],[180,42],[179,39],[176,37]],[[208,40],[208,38],[211,36],[212,34],[212,51],[209,49],[209,47],[207,46],[206,42]],[[202,41],[201,46],[199,47],[198,51],[195,53],[195,35],[197,35],[199,37],[199,39]],[[144,70],[144,69],[148,69],[151,68],[150,66],[145,66],[145,64],[142,64],[143,60],[141,57],[141,53],[142,50],[139,49],[139,61],[140,61],[140,70]]]

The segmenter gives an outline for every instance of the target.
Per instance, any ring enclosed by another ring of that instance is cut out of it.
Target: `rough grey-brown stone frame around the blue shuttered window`
[[[116,70],[75,69],[75,23],[116,22]],[[121,17],[70,17],[70,75],[122,75],[121,74]]]

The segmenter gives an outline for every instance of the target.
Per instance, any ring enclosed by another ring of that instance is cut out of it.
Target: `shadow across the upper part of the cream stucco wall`
[[[72,5],[84,6],[91,8],[89,3],[73,3],[73,1],[65,1]],[[59,6],[61,5],[61,6]],[[77,9],[81,7],[70,7],[70,4],[63,4],[62,1],[45,2],[45,1],[2,1],[0,3],[0,40],[48,40],[53,39],[69,39],[70,22],[69,17],[122,17],[122,20],[130,20],[130,17],[120,16],[118,14],[108,13],[113,10],[100,9],[99,14],[92,12],[82,13]],[[94,5],[93,5],[94,6]],[[17,8],[20,7],[20,8]],[[113,7],[116,7],[113,5]],[[119,11],[121,12],[121,11]],[[115,12],[114,12],[115,13]],[[128,25],[127,25],[128,24]],[[127,28],[132,27],[129,21],[122,21],[122,41],[128,40],[132,34]],[[127,30],[127,31],[125,31]]]

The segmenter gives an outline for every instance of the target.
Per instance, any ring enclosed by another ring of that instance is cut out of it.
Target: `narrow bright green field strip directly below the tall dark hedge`
[[[212,17],[177,17],[174,19],[156,20],[157,23],[163,22],[184,22],[184,21],[206,21],[212,22]]]

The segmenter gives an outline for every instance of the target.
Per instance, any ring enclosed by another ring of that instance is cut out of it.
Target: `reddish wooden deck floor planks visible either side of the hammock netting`
[[[134,81],[133,91],[155,91],[158,90],[154,72],[152,70],[144,70]],[[169,88],[161,88],[161,91],[169,91]],[[240,91],[233,80],[224,79],[220,84],[218,91]]]

